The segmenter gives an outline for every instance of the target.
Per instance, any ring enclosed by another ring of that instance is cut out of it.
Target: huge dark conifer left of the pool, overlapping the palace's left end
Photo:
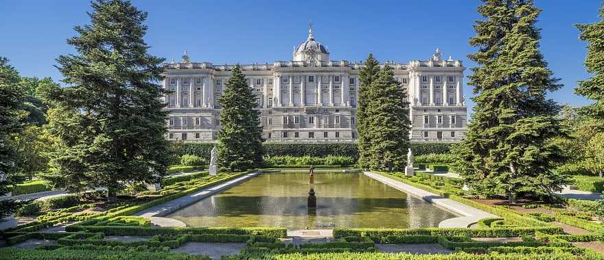
[[[147,53],[146,12],[122,0],[91,5],[91,24],[67,40],[78,54],[57,59],[69,87],[45,89],[56,138],[46,178],[71,192],[106,187],[113,200],[126,185],[167,172],[163,59]]]

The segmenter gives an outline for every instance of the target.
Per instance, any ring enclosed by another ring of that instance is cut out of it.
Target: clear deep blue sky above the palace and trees
[[[438,1],[132,1],[149,13],[146,41],[150,53],[181,60],[187,50],[196,62],[272,63],[290,60],[294,46],[314,36],[329,48],[332,60],[427,60],[437,47],[469,68],[475,49],[468,39],[480,16],[478,0]],[[575,23],[599,21],[599,1],[537,0],[542,8],[542,53],[564,88],[550,94],[560,103],[583,105],[574,94],[577,80],[588,77],[585,42]],[[0,0],[0,56],[21,75],[62,79],[53,65],[73,53],[65,40],[74,25],[89,23],[89,1]],[[466,74],[469,70],[466,70]],[[467,105],[472,89],[464,86]],[[469,109],[469,112],[471,110]]]

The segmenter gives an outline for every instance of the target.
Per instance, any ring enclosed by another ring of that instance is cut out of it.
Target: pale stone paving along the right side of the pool
[[[495,215],[491,213],[487,213],[480,209],[476,209],[474,207],[469,207],[463,203],[458,203],[450,198],[444,198],[437,194],[433,194],[432,192],[427,192],[426,190],[421,190],[418,187],[413,187],[412,185],[408,185],[406,183],[402,183],[400,181],[396,181],[395,179],[391,179],[385,177],[381,174],[377,174],[374,172],[364,172],[365,175],[371,177],[377,181],[380,181],[388,186],[394,187],[397,190],[402,192],[406,192],[407,194],[411,194],[413,196],[417,196],[419,198],[423,198],[434,205],[438,205],[439,207],[443,207],[461,215],[458,218],[450,218],[448,220],[444,220],[439,224],[439,227],[462,227],[467,228],[468,226],[478,222],[478,220],[483,218],[494,218]]]

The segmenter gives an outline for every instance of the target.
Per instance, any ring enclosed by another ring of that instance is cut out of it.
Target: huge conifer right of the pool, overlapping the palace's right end
[[[550,196],[566,183],[553,172],[564,160],[561,148],[550,142],[562,135],[555,117],[559,105],[546,93],[561,87],[539,53],[540,10],[529,0],[484,1],[478,12],[486,21],[474,25],[469,43],[469,85],[476,105],[465,140],[456,146],[456,168],[485,195],[504,194],[511,203],[518,196]]]

